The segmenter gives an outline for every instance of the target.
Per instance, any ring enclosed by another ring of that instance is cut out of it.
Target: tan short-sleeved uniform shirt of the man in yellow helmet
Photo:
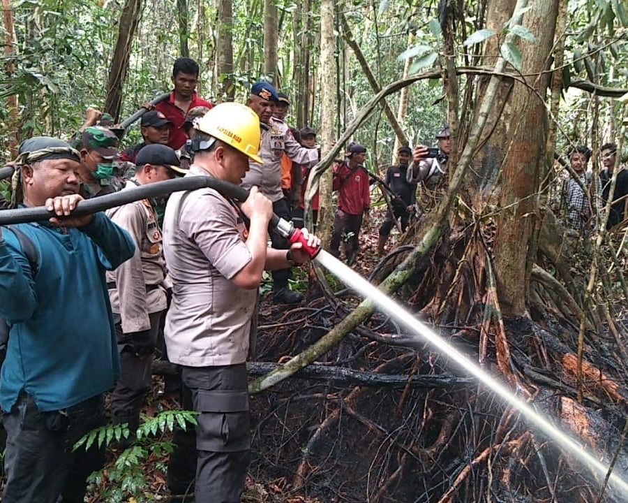
[[[186,177],[208,175],[192,165]],[[239,212],[214,189],[170,196],[163,246],[172,280],[165,322],[168,358],[190,367],[235,365],[248,355],[257,289],[231,279],[251,261]]]

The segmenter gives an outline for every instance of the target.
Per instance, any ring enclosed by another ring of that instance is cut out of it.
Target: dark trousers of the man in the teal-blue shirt
[[[63,411],[41,412],[22,394],[3,417],[7,432],[3,503],[82,503],[91,472],[105,465],[105,451],[94,442],[86,451],[73,445],[105,425],[102,395]],[[61,499],[59,499],[61,497]]]

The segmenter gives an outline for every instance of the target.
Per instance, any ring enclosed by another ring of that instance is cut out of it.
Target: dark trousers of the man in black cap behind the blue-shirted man
[[[151,337],[157,340],[164,312],[149,314]],[[114,314],[118,349],[120,351],[120,377],[111,394],[111,414],[114,425],[128,423],[132,432],[140,425],[140,411],[151,391],[153,356],[135,356],[130,341],[126,340],[120,326],[120,315]]]

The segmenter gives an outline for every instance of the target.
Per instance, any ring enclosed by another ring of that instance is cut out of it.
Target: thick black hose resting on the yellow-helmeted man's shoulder
[[[248,198],[248,190],[238,185],[223,182],[223,180],[216,180],[216,178],[213,177],[187,176],[174,180],[166,180],[165,182],[142,185],[134,189],[81,201],[72,212],[72,216],[80,217],[85,214],[96,213],[108,210],[112,207],[133,203],[134,201],[141,201],[142,199],[151,199],[158,196],[166,196],[167,194],[172,194],[172,192],[191,191],[204,189],[206,187],[215,189],[226,198],[235,199],[236,201],[246,201],[246,198]],[[0,225],[5,226],[10,224],[23,224],[31,221],[46,221],[55,216],[54,212],[49,212],[46,210],[45,206],[3,210],[0,211]],[[269,227],[275,228],[278,221],[279,217],[274,214]]]

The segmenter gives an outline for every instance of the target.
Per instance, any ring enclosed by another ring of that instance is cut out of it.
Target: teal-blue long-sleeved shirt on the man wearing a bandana
[[[20,393],[40,411],[65,409],[110,389],[119,376],[105,270],[135,251],[104,213],[81,228],[19,224],[40,256],[33,277],[15,234],[0,240],[0,317],[11,326],[0,377],[0,406]]]

